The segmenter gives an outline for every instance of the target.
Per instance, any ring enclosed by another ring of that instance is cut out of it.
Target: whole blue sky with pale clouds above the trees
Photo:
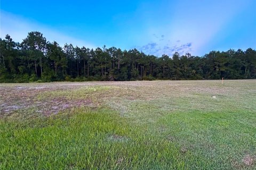
[[[39,31],[60,46],[137,48],[149,55],[256,49],[255,0],[1,1],[0,37]]]

